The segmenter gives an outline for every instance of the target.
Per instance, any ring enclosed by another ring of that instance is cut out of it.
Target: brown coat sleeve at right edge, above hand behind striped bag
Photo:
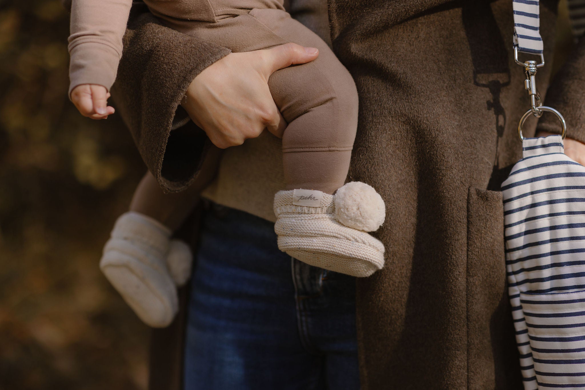
[[[585,143],[585,39],[553,77],[545,105],[557,109],[567,122],[567,137]],[[555,115],[545,113],[538,122],[538,131],[560,134]]]

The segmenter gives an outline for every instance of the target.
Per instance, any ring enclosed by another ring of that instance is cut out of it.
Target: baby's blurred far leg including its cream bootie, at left
[[[191,274],[192,254],[170,237],[215,175],[219,156],[211,147],[194,184],[179,194],[164,194],[147,173],[104,247],[99,267],[147,325],[167,326],[177,313],[177,286]]]

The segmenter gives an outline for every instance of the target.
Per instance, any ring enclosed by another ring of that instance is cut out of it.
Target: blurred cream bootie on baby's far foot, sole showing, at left
[[[105,244],[99,268],[146,325],[170,325],[178,310],[177,285],[191,274],[187,244],[137,212],[124,213]]]

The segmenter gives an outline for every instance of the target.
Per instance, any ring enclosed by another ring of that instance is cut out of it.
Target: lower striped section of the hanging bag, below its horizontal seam
[[[585,387],[585,291],[522,292],[539,388]]]

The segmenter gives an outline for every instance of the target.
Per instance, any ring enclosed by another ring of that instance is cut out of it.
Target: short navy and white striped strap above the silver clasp
[[[514,46],[523,53],[541,54],[543,45],[540,33],[538,0],[513,0]]]

